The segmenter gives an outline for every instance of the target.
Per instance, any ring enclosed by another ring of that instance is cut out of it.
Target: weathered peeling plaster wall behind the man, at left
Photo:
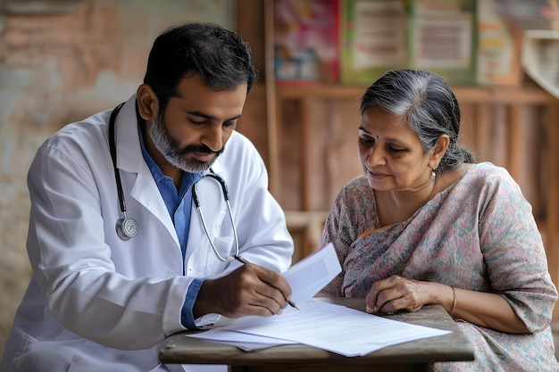
[[[231,0],[0,0],[0,353],[29,282],[29,164],[46,136],[112,108],[163,29],[231,28]]]

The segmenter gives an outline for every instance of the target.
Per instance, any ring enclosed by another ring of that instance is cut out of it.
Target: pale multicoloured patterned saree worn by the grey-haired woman
[[[513,335],[458,320],[473,362],[435,363],[439,371],[558,371],[549,323],[557,291],[530,203],[508,172],[480,163],[410,219],[380,227],[364,177],[343,187],[322,236],[342,272],[324,289],[364,297],[392,275],[497,293],[530,334]]]

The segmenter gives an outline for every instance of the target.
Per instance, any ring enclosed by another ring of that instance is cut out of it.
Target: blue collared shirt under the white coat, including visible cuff
[[[177,190],[172,178],[165,176],[151,155],[147,153],[146,146],[144,145],[144,136],[139,124],[138,134],[144,161],[146,161],[147,168],[149,168],[154,177],[155,184],[163,197],[163,202],[165,202],[167,211],[169,211],[172,223],[175,226],[177,236],[179,236],[180,251],[182,252],[183,260],[182,275],[184,275],[184,258],[187,252],[188,228],[190,226],[190,211],[192,207],[192,186],[200,180],[203,175],[202,173],[185,172],[180,180],[179,190]],[[189,329],[197,328],[194,322],[192,309],[194,308],[196,296],[203,282],[203,278],[195,278],[193,280],[188,287],[186,299],[182,306],[180,321],[184,327],[188,327]]]

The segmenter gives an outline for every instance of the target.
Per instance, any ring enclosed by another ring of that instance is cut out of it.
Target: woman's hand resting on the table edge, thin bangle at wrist
[[[448,291],[451,292],[445,293]],[[443,298],[449,298],[450,303],[443,303],[445,302],[441,300]],[[447,285],[421,282],[394,275],[373,283],[371,290],[367,293],[365,303],[367,312],[417,311],[423,305],[431,303],[441,303],[443,306],[446,305],[446,310],[450,310],[452,288]]]

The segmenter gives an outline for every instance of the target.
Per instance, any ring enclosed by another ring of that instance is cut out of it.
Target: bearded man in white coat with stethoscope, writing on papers
[[[165,336],[288,305],[293,241],[235,131],[255,79],[237,34],[172,28],[128,102],[38,149],[33,277],[0,371],[164,371],[177,368],[158,363]]]

